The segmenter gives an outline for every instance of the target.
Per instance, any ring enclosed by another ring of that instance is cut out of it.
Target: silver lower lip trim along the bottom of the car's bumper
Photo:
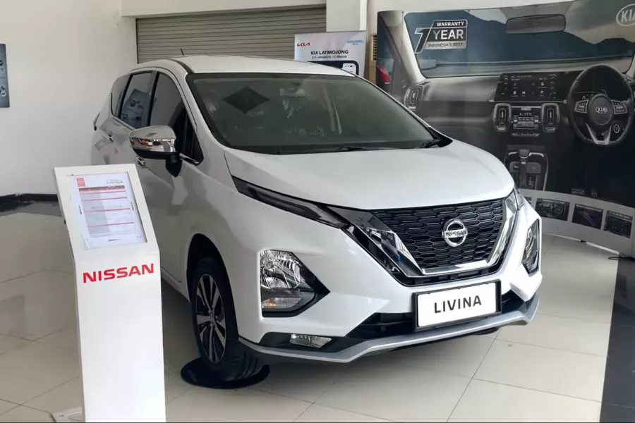
[[[265,347],[247,341],[244,338],[241,338],[240,341],[260,355],[278,357],[279,360],[283,361],[313,360],[322,362],[349,363],[363,357],[364,355],[384,353],[390,350],[397,350],[399,348],[483,333],[490,329],[497,329],[502,326],[526,325],[533,319],[534,315],[536,315],[538,302],[540,302],[540,299],[538,293],[536,293],[531,300],[524,302],[519,309],[512,312],[497,314],[492,317],[485,317],[484,319],[470,321],[464,324],[445,326],[439,329],[430,329],[428,331],[408,333],[406,335],[389,336],[387,338],[363,341],[349,348],[338,351],[337,353],[325,353],[319,350],[289,350],[286,348]]]

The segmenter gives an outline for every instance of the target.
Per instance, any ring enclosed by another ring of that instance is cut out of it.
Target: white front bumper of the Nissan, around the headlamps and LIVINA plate
[[[540,219],[529,204],[525,204],[517,216],[509,247],[495,273],[434,285],[404,286],[344,231],[283,212],[245,195],[234,195],[231,199],[232,202],[226,203],[231,212],[224,214],[229,219],[227,231],[222,234],[224,242],[217,245],[226,247],[226,251],[221,250],[221,253],[231,283],[239,336],[245,345],[262,353],[281,357],[298,354],[296,350],[263,342],[272,333],[346,338],[376,314],[413,313],[413,295],[440,289],[499,281],[502,295],[513,293],[521,303],[537,306],[536,293],[542,274],[539,270],[529,276],[521,264],[528,228]],[[293,252],[329,293],[294,316],[262,316],[258,257],[260,251],[268,249]],[[433,331],[389,333],[382,338],[365,339],[354,348],[346,345],[348,348],[330,352],[325,348],[310,351],[310,355],[333,355],[335,361],[346,362],[354,360],[346,358],[348,355],[358,357],[379,350],[401,348],[401,342],[405,342],[406,346],[416,345],[507,324],[523,324],[531,320],[534,312],[535,309],[531,311],[530,307],[525,312],[503,313],[482,321]],[[480,327],[481,324],[485,326]],[[394,346],[393,342],[399,344]],[[365,352],[366,348],[369,350]],[[277,351],[279,349],[283,351]],[[304,352],[301,353],[304,357]],[[342,355],[344,359],[337,359]]]

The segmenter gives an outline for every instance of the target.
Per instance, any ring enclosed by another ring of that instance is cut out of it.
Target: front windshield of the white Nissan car
[[[188,77],[219,142],[270,154],[416,148],[425,125],[360,78],[298,74]]]

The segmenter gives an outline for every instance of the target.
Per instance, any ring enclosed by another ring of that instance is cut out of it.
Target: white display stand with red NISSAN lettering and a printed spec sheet
[[[159,247],[137,169],[54,173],[75,263],[83,419],[165,422]]]

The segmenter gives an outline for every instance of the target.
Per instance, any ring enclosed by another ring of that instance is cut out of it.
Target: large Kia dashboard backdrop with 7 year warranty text
[[[545,232],[631,255],[633,0],[429,8],[378,13],[377,85],[498,157]]]

